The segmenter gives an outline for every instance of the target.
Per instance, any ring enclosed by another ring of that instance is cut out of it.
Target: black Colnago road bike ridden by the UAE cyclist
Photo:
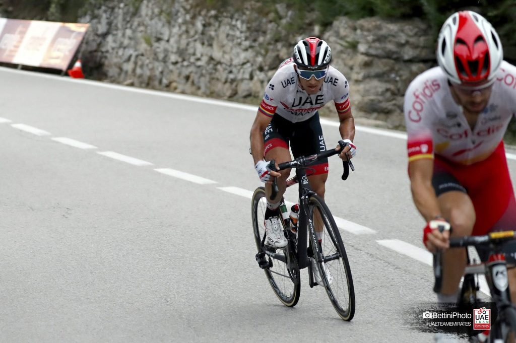
[[[347,143],[339,142],[341,149]],[[288,240],[285,248],[274,248],[265,244],[266,210],[265,188],[258,187],[254,191],[251,201],[252,223],[256,248],[256,261],[265,271],[267,280],[279,300],[286,306],[293,307],[299,301],[301,292],[300,269],[308,267],[309,285],[314,287],[311,260],[314,259],[322,279],[322,286],[338,315],[350,321],[355,312],[355,297],[351,269],[349,267],[346,250],[335,224],[335,220],[328,206],[311,188],[308,182],[307,170],[310,164],[325,157],[340,153],[341,150],[328,150],[316,155],[301,156],[292,161],[278,165],[275,161],[269,162],[271,170],[296,169],[296,176],[287,180],[287,187],[299,184],[299,218],[297,226],[289,220],[289,214],[284,199],[280,202],[278,217],[283,226],[283,232]],[[346,179],[349,168],[354,170],[348,156],[343,161]],[[277,196],[276,179],[273,181],[271,199]],[[318,236],[318,237],[317,237]]]

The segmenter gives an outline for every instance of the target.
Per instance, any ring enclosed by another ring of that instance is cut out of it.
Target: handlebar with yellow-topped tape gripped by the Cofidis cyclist
[[[464,237],[453,237],[449,239],[450,248],[463,248],[463,247],[478,247],[487,246],[494,244],[500,246],[503,243],[516,239],[515,231],[500,231],[492,232],[482,236],[464,236]],[[433,275],[436,279],[436,283],[433,285],[433,291],[438,293],[442,288],[442,257],[443,252],[440,250],[433,254]]]

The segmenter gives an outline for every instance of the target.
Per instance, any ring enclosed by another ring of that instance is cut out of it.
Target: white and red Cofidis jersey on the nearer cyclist
[[[417,76],[405,93],[409,161],[437,154],[471,165],[489,157],[516,112],[516,67],[502,62],[486,108],[472,129],[440,67]]]

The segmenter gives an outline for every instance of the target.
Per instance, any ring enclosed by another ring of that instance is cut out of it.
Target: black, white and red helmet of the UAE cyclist
[[[322,69],[331,61],[331,49],[324,40],[308,37],[294,46],[294,62],[303,69]]]

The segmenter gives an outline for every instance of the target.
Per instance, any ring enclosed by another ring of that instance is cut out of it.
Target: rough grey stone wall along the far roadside
[[[114,83],[258,104],[294,44],[315,34],[330,44],[332,65],[350,82],[358,121],[403,125],[405,89],[435,60],[423,22],[341,17],[324,32],[311,27],[293,35],[283,28],[294,20],[284,5],[268,15],[257,8],[247,3],[216,11],[191,0],[112,0],[80,19],[91,24],[80,57],[88,74]]]

